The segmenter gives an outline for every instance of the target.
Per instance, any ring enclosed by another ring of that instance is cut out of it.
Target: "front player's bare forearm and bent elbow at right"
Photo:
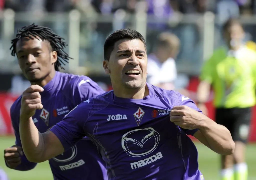
[[[232,154],[234,151],[234,141],[229,130],[211,119],[206,119],[204,125],[199,128],[204,135],[210,148],[219,154]]]

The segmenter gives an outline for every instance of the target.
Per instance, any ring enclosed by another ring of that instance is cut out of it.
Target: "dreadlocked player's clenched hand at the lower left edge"
[[[7,166],[11,169],[14,169],[21,164],[20,155],[23,155],[22,147],[12,146],[4,150],[4,160]]]

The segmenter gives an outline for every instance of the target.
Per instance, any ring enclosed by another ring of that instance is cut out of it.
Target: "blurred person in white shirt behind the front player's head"
[[[179,47],[180,42],[176,35],[168,32],[159,34],[154,52],[148,55],[148,83],[166,90],[175,89],[174,82],[177,78],[175,58],[179,53]]]

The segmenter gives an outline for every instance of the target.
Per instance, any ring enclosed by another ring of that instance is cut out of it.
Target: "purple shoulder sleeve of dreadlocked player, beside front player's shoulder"
[[[74,83],[73,88],[74,105],[105,93],[96,82],[86,76],[80,76]]]

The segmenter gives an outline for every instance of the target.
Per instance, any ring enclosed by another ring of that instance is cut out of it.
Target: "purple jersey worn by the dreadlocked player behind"
[[[44,133],[79,103],[95,97],[104,91],[90,78],[56,72],[55,77],[40,92],[42,110],[36,110],[32,117],[40,133]],[[16,145],[21,146],[19,136],[19,111],[21,96],[11,107],[10,115],[16,136]],[[91,180],[107,179],[105,163],[100,157],[97,147],[88,138],[80,138],[76,145],[49,160],[54,179]],[[88,148],[84,148],[88,147]],[[25,155],[22,164],[16,169],[26,171],[35,167]],[[81,176],[81,173],[83,176]]]

